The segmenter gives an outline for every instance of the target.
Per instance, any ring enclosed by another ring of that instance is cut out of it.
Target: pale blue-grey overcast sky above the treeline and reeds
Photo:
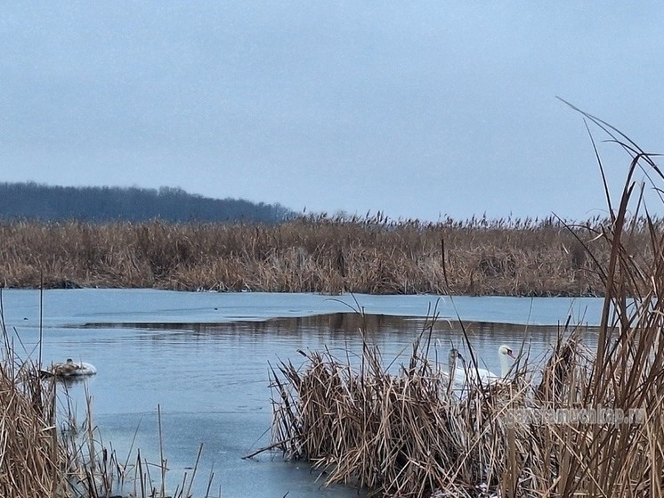
[[[601,176],[555,97],[664,152],[663,26],[655,1],[4,3],[0,181],[587,219]]]

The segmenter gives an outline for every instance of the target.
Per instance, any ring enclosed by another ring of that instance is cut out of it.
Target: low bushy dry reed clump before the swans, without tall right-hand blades
[[[427,359],[432,330],[398,373],[368,344],[360,365],[328,352],[305,355],[304,368],[280,364],[272,371],[273,447],[311,461],[328,484],[385,496],[479,496],[514,484],[513,472],[520,486],[542,489],[545,446],[534,437],[544,435],[508,416],[532,405],[531,373],[522,365],[510,383],[450,384]]]

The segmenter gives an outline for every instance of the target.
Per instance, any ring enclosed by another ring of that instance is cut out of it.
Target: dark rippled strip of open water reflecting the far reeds
[[[265,348],[278,352],[279,345],[327,347],[350,352],[360,351],[362,340],[376,344],[385,355],[399,357],[408,353],[413,342],[431,338],[432,347],[445,352],[449,347],[466,349],[464,331],[476,353],[489,366],[496,366],[492,357],[500,344],[508,343],[515,350],[522,347],[531,355],[547,352],[558,336],[569,335],[572,327],[564,325],[520,325],[499,322],[459,322],[389,314],[332,313],[304,317],[272,318],[261,322],[88,322],[81,329],[135,330],[150,332],[152,341],[224,341],[228,347],[238,347],[249,354]],[[596,327],[579,326],[592,342]],[[145,338],[143,338],[145,339]],[[313,340],[310,345],[308,341]],[[357,349],[356,349],[357,348]]]

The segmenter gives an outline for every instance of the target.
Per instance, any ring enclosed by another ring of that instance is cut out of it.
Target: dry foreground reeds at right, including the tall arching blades
[[[522,347],[505,380],[461,392],[431,359],[435,314],[396,372],[368,343],[359,361],[303,353],[302,365],[272,370],[271,447],[327,483],[385,496],[664,496],[664,231],[647,211],[641,225],[627,216],[644,208],[637,168],[656,188],[664,176],[628,137],[585,117],[632,154],[587,252],[605,296],[596,346],[568,321],[541,361]],[[633,256],[643,231],[651,259]],[[465,346],[473,370],[467,335]]]

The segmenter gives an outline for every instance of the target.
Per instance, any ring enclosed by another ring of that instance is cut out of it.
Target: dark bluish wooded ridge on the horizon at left
[[[0,184],[0,218],[85,222],[163,220],[279,223],[295,213],[279,204],[216,200],[180,188],[61,187]]]

